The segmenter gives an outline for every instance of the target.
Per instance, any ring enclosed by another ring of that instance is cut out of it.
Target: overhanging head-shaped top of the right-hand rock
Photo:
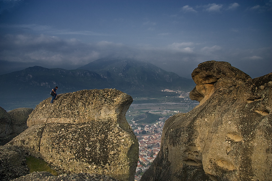
[[[196,87],[190,92],[190,98],[197,100],[200,106],[217,89],[232,90],[241,85],[250,76],[232,67],[228,62],[206,61],[200,63],[192,72]]]

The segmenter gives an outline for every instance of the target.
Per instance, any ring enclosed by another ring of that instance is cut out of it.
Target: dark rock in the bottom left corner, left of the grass
[[[17,146],[0,146],[0,180],[10,180],[29,173],[25,154]]]

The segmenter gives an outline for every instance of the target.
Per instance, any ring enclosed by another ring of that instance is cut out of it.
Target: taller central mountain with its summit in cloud
[[[78,69],[94,71],[123,91],[160,91],[164,88],[191,91],[194,82],[151,63],[132,59],[98,59]]]

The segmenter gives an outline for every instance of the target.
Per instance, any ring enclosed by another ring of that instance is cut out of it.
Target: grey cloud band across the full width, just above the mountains
[[[56,36],[7,34],[1,37],[0,65],[3,74],[35,65],[76,69],[96,59],[121,57],[147,61],[190,78],[199,63],[216,60],[227,61],[251,77],[259,77],[271,71],[271,52],[271,47],[230,50],[219,45],[208,47],[193,42],[173,43],[166,47],[132,47],[108,41],[83,43]]]

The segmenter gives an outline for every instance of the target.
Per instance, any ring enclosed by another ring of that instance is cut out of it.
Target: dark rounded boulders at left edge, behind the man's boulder
[[[9,112],[0,107],[0,145],[4,145],[26,130],[32,108],[17,108]]]

